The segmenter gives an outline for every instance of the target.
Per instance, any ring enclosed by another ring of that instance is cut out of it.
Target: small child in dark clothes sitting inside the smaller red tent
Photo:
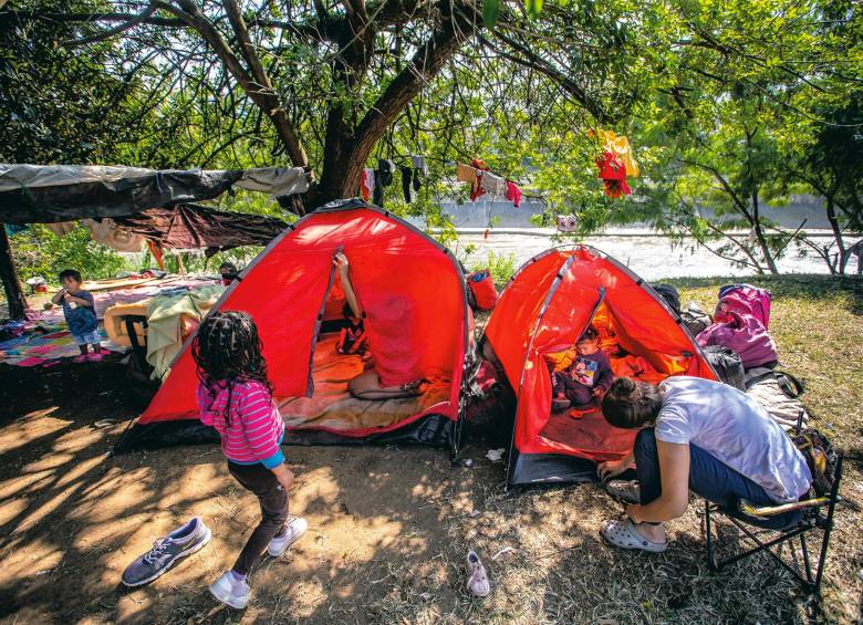
[[[555,413],[584,407],[602,396],[612,382],[611,362],[600,350],[600,333],[592,325],[575,342],[575,360],[563,371],[551,374],[551,407]]]

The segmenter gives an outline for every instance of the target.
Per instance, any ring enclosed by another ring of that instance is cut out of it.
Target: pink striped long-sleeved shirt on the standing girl
[[[198,385],[198,407],[204,425],[212,426],[221,437],[221,450],[231,462],[268,469],[284,462],[280,449],[284,436],[282,420],[268,388],[257,381],[236,382],[230,393],[230,426],[225,418],[228,385],[214,384],[215,394]]]

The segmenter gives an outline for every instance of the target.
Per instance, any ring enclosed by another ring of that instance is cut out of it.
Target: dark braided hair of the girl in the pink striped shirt
[[[254,320],[245,312],[227,311],[208,314],[191,342],[191,356],[201,384],[215,398],[214,385],[228,385],[225,420],[230,426],[231,393],[238,382],[257,381],[272,395],[263,360],[263,343]]]

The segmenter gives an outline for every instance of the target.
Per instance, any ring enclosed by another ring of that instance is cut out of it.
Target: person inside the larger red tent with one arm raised
[[[413,327],[409,319],[414,314],[414,303],[406,298],[387,295],[372,302],[364,315],[351,282],[347,257],[336,253],[333,264],[354,316],[358,320],[365,316],[368,321],[371,366],[347,383],[349,392],[357,399],[416,397],[422,393],[423,382],[419,354],[412,352],[412,342],[401,335]]]

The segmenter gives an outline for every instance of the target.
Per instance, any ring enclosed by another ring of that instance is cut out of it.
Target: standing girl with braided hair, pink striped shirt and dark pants
[[[272,400],[262,348],[254,321],[237,311],[208,315],[191,344],[200,420],[219,433],[228,471],[261,507],[261,521],[233,567],[210,585],[217,600],[237,610],[249,603],[247,576],[263,551],[281,555],[306,529],[304,519],[288,514],[293,473],[280,449],[284,421]]]

